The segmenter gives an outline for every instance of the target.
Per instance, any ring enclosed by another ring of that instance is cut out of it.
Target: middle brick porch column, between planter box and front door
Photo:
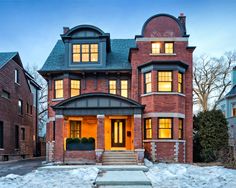
[[[97,115],[97,145],[96,145],[96,161],[102,162],[102,154],[105,149],[104,142],[104,115]]]

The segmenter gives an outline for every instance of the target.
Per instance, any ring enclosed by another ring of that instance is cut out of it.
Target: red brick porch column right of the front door
[[[142,144],[142,115],[134,114],[134,151],[139,163],[143,163],[144,149]]]

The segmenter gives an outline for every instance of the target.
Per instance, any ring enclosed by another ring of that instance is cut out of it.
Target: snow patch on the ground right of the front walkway
[[[189,164],[152,164],[146,172],[158,188],[236,188],[236,170],[220,166],[199,167]]]

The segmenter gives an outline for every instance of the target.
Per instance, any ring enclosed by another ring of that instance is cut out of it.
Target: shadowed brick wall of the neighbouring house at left
[[[0,160],[20,159],[36,154],[36,109],[33,105],[33,94],[24,69],[17,60],[12,59],[0,68],[0,122],[3,124],[4,142],[3,148],[0,148]],[[16,69],[19,74],[19,84],[15,83]],[[9,93],[9,98],[3,97],[4,91]],[[22,114],[18,112],[19,99],[23,102]]]

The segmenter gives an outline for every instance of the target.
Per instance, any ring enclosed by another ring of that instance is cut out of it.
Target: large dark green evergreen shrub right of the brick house
[[[220,110],[200,112],[194,118],[193,143],[195,162],[222,161],[222,152],[228,148],[228,128]]]

